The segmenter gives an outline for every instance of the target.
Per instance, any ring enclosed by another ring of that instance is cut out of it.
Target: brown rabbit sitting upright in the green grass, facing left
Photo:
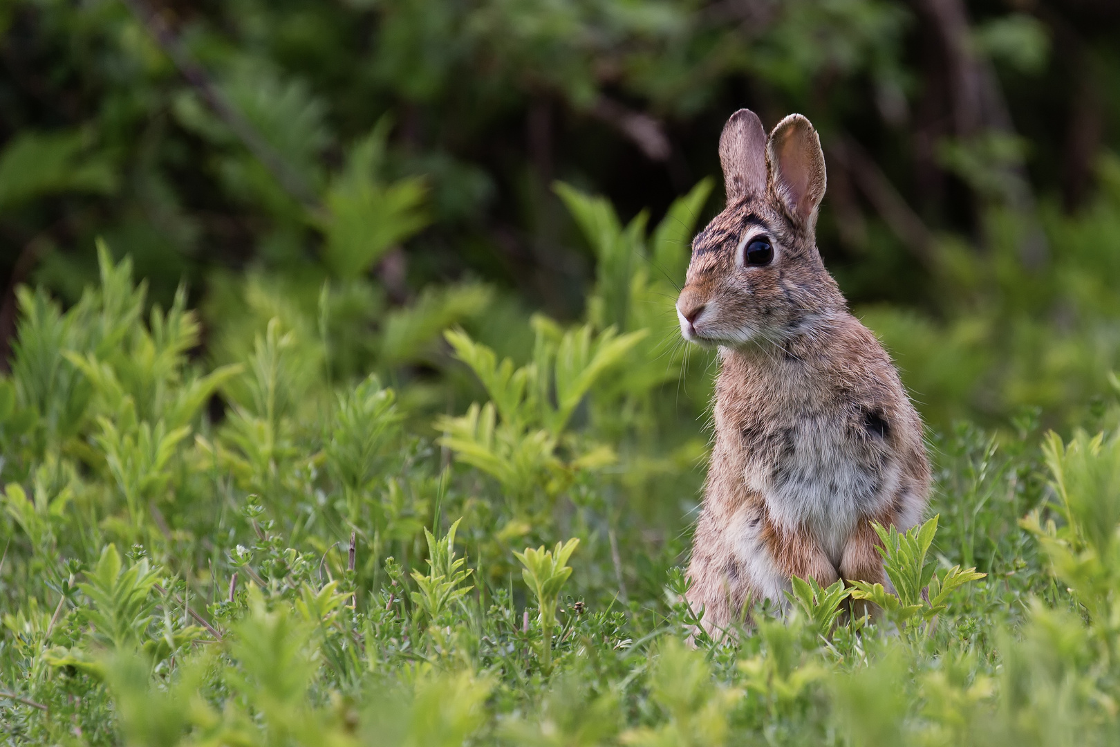
[[[727,206],[693,240],[676,301],[681,334],[720,360],[685,594],[712,635],[763,599],[786,609],[792,576],[892,588],[871,522],[914,526],[930,491],[922,420],[816,249],[813,125],[791,114],[767,138],[741,109],[719,158]]]

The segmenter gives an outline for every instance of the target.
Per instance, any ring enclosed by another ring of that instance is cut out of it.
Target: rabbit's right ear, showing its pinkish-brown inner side
[[[791,217],[812,230],[824,197],[824,153],[816,130],[801,114],[777,123],[766,143],[774,193]]]

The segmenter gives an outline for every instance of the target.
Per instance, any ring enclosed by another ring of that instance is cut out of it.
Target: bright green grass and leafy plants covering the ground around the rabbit
[[[672,237],[605,230],[603,252],[673,259]],[[339,375],[329,287],[318,321],[226,320],[209,358],[185,296],[146,311],[108,252],[65,312],[22,291],[0,379],[6,741],[1117,743],[1114,402],[1066,442],[1029,413],[932,437],[936,521],[885,535],[899,596],[852,591],[876,622],[796,583],[784,618],[691,648],[710,372],[665,344],[670,287],[600,272],[629,281],[600,278],[586,324],[534,318],[517,362],[466,332],[440,347],[414,311],[436,380]]]

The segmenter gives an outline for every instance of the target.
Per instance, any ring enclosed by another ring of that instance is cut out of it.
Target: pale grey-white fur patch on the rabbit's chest
[[[898,478],[885,427],[859,409],[842,417],[810,412],[781,426],[759,419],[741,432],[744,479],[771,521],[808,530],[833,562],[858,520],[889,501]]]

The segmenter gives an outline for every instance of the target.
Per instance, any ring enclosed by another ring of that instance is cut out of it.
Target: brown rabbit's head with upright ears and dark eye
[[[809,120],[791,114],[769,138],[740,109],[719,138],[727,207],[692,241],[676,316],[685,339],[739,347],[781,344],[844,308],[816,251],[824,153]]]

